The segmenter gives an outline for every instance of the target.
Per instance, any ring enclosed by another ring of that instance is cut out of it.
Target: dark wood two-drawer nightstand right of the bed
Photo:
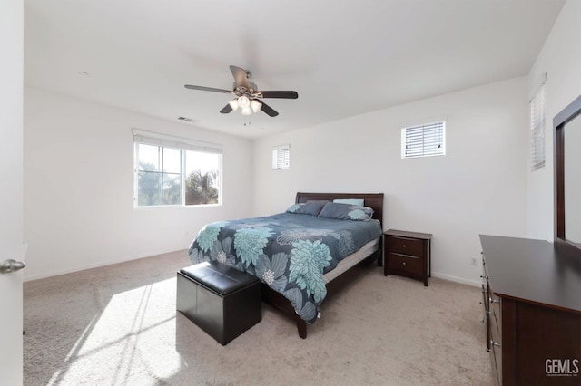
[[[431,239],[429,233],[396,229],[383,232],[383,275],[408,276],[428,286]]]

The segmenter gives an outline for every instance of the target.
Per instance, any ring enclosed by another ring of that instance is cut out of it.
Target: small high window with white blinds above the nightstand
[[[445,122],[439,121],[401,129],[401,158],[443,156]]]

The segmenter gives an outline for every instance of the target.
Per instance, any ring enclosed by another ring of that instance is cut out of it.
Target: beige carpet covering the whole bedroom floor
[[[25,385],[487,385],[478,288],[377,266],[323,304],[222,347],[175,312],[184,251],[25,283]]]

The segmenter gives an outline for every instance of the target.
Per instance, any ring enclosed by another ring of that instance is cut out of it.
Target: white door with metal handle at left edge
[[[0,264],[23,258],[24,2],[0,1]],[[23,383],[22,271],[0,274],[0,378]]]

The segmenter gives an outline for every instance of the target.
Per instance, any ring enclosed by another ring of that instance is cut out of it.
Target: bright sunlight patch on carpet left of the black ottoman
[[[100,384],[141,379],[142,384],[153,384],[180,372],[180,355],[175,351],[175,301],[168,299],[174,296],[174,287],[175,279],[168,279],[114,294],[49,384],[82,379]],[[135,373],[136,369],[140,373]]]

